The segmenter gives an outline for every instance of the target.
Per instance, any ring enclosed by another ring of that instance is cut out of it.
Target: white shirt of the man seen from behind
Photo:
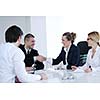
[[[40,80],[40,75],[26,72],[24,58],[24,53],[13,43],[0,44],[0,82],[15,82],[15,76],[21,82]]]

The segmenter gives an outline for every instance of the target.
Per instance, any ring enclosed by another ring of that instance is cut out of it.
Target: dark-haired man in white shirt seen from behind
[[[25,55],[18,46],[23,32],[20,27],[10,26],[5,32],[5,44],[0,44],[0,83],[14,83],[15,76],[21,82],[47,79],[45,75],[28,74],[25,69]]]

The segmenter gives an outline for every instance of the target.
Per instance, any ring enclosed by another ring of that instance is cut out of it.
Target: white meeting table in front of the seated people
[[[45,73],[47,80],[39,80],[36,83],[100,83],[100,72],[73,72],[71,70],[55,70],[48,68],[35,71],[35,74]]]

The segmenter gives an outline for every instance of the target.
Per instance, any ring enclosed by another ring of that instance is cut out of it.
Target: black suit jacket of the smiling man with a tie
[[[26,50],[24,48],[24,45],[20,45],[19,48],[24,52],[25,54],[25,66],[27,67],[31,67],[33,64],[35,64],[35,67],[36,67],[36,70],[40,70],[40,69],[43,69],[44,68],[44,64],[42,62],[39,62],[39,61],[35,61],[34,62],[34,57],[35,56],[38,56],[39,53],[37,50],[35,49],[31,49],[31,52],[29,54],[26,54]]]

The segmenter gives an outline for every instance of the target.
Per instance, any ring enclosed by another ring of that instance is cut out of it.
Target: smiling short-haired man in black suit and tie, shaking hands
[[[32,70],[32,65],[34,64],[34,67],[36,70],[40,70],[44,68],[43,61],[46,60],[45,57],[39,55],[38,51],[33,49],[35,45],[35,37],[32,34],[27,34],[24,37],[24,45],[20,45],[19,48],[24,52],[25,54],[25,66],[26,70],[30,71]]]

